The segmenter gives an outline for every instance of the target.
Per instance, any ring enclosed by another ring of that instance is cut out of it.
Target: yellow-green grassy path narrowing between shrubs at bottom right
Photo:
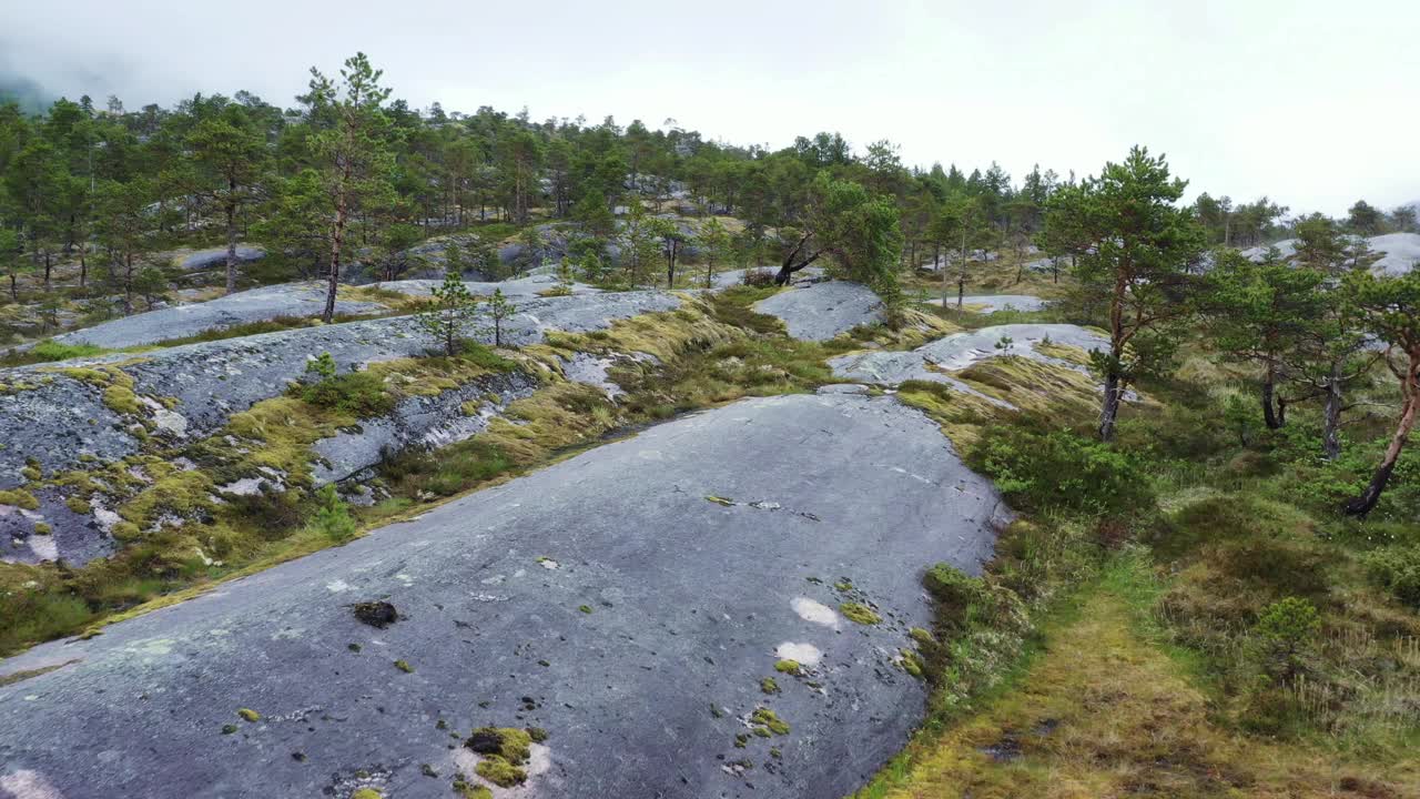
[[[892,785],[862,796],[1005,799],[1103,796],[1402,798],[1414,766],[1384,773],[1301,744],[1216,725],[1197,664],[1156,643],[1157,587],[1123,557],[1042,630],[1007,690],[914,752]]]

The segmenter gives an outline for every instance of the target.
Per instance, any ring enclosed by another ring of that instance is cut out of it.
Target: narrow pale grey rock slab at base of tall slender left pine
[[[266,321],[283,316],[311,317],[325,310],[322,283],[283,283],[248,291],[237,291],[204,303],[173,306],[155,311],[115,318],[84,330],[55,336],[64,344],[94,344],[109,350],[156,344],[186,338],[209,330],[234,327],[250,321]],[[338,314],[372,314],[383,311],[378,303],[338,300]]]

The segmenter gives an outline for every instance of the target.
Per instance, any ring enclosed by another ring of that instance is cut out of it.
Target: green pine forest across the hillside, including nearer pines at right
[[[1102,439],[1113,435],[1127,387],[1163,370],[1197,330],[1258,368],[1268,427],[1285,424],[1288,404],[1321,402],[1328,458],[1348,388],[1384,364],[1403,404],[1375,479],[1348,505],[1365,515],[1420,405],[1420,274],[1373,276],[1376,256],[1359,237],[1416,230],[1414,208],[1358,200],[1345,219],[1328,219],[1288,218],[1268,198],[1200,193],[1180,205],[1186,183],[1142,148],[1098,176],[1035,166],[1017,182],[997,163],[970,173],[910,168],[888,141],[855,152],[828,132],[767,151],[670,121],[650,129],[491,108],[419,111],[392,100],[364,54],[338,75],[312,68],[295,100],[284,109],[248,92],[197,95],[138,111],[118,98],[102,109],[60,100],[37,117],[0,107],[0,259],[13,299],[21,273],[48,290],[53,266],[77,259],[81,286],[97,264],[104,289],[132,310],[135,286],[160,280],[149,253],[219,232],[229,291],[237,242],[260,242],[293,274],[328,280],[327,320],[352,260],[395,279],[412,245],[488,219],[530,239],[534,220],[568,222],[565,262],[594,281],[646,284],[669,253],[673,284],[677,249],[696,237],[711,262],[772,260],[781,283],[831,263],[889,303],[900,300],[903,270],[929,259],[946,284],[941,259],[954,253],[960,297],[974,253],[1014,250],[1024,263],[1037,247],[1068,264],[1110,334],[1109,351],[1096,353]],[[672,200],[704,225],[687,233],[666,223],[656,212]],[[1285,263],[1279,254],[1254,263],[1234,249],[1284,236],[1299,239]],[[473,266],[497,266],[487,243]]]

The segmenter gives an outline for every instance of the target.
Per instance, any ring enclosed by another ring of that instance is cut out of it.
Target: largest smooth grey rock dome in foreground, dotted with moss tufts
[[[893,664],[930,618],[923,569],[977,573],[1001,510],[893,398],[680,418],[0,663],[75,661],[0,687],[0,796],[443,799],[473,772],[450,731],[481,725],[550,735],[528,785],[496,796],[843,796],[923,717],[924,685]],[[354,618],[382,597],[400,621]],[[885,621],[842,618],[845,600]],[[802,678],[775,674],[785,654]],[[760,707],[791,732],[736,748]]]

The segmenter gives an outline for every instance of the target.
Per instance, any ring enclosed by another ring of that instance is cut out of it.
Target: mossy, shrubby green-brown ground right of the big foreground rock
[[[995,417],[903,387],[1022,518],[981,579],[927,572],[929,719],[858,796],[1420,796],[1420,458],[1345,519],[1384,382],[1325,461],[1315,408],[1225,421],[1250,377],[1190,344],[1113,445],[1068,385]]]

